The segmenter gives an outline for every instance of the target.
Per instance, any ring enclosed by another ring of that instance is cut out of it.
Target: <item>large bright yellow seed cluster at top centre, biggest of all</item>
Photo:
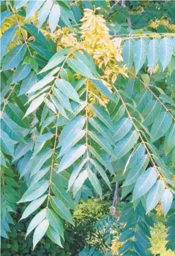
[[[127,76],[126,67],[117,64],[122,61],[121,41],[117,38],[111,40],[106,20],[101,15],[96,15],[94,10],[85,9],[81,21],[81,45],[93,57],[96,65],[102,68],[103,78],[114,83],[120,73]]]

